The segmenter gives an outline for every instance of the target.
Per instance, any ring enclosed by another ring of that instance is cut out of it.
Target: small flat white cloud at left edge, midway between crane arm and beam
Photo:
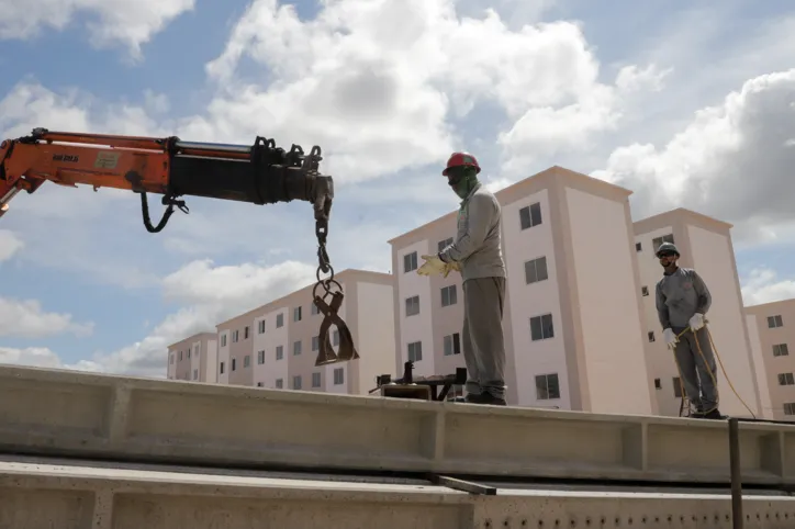
[[[43,338],[70,333],[88,336],[92,323],[75,323],[70,314],[44,312],[35,300],[0,297],[0,337]]]

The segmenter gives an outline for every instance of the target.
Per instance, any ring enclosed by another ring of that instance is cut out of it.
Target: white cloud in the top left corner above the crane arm
[[[88,15],[85,25],[93,45],[120,43],[139,59],[143,44],[194,5],[195,0],[0,0],[0,38],[33,38]]]

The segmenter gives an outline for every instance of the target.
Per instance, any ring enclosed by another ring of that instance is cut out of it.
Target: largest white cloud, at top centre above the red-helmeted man
[[[444,164],[463,142],[448,119],[481,102],[516,122],[501,138],[508,168],[584,146],[614,125],[615,89],[597,81],[598,63],[576,24],[512,31],[492,9],[474,19],[457,8],[452,0],[336,0],[302,21],[291,5],[255,0],[208,65],[217,97],[180,134],[250,140],[267,123],[278,143],[323,146],[325,170],[355,182]],[[267,88],[247,82],[244,57],[270,69]]]

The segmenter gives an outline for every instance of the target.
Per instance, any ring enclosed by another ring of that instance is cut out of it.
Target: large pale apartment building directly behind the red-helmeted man
[[[630,191],[551,167],[496,193],[508,272],[503,318],[507,401],[596,413],[652,414]],[[396,368],[463,367],[460,275],[421,277],[419,256],[456,235],[451,212],[389,243]]]

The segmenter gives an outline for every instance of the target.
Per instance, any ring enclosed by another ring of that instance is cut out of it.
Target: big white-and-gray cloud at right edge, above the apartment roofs
[[[793,137],[795,69],[748,80],[662,148],[615,149],[592,176],[634,190],[636,216],[683,206],[735,223],[740,239],[771,237],[795,222]]]

